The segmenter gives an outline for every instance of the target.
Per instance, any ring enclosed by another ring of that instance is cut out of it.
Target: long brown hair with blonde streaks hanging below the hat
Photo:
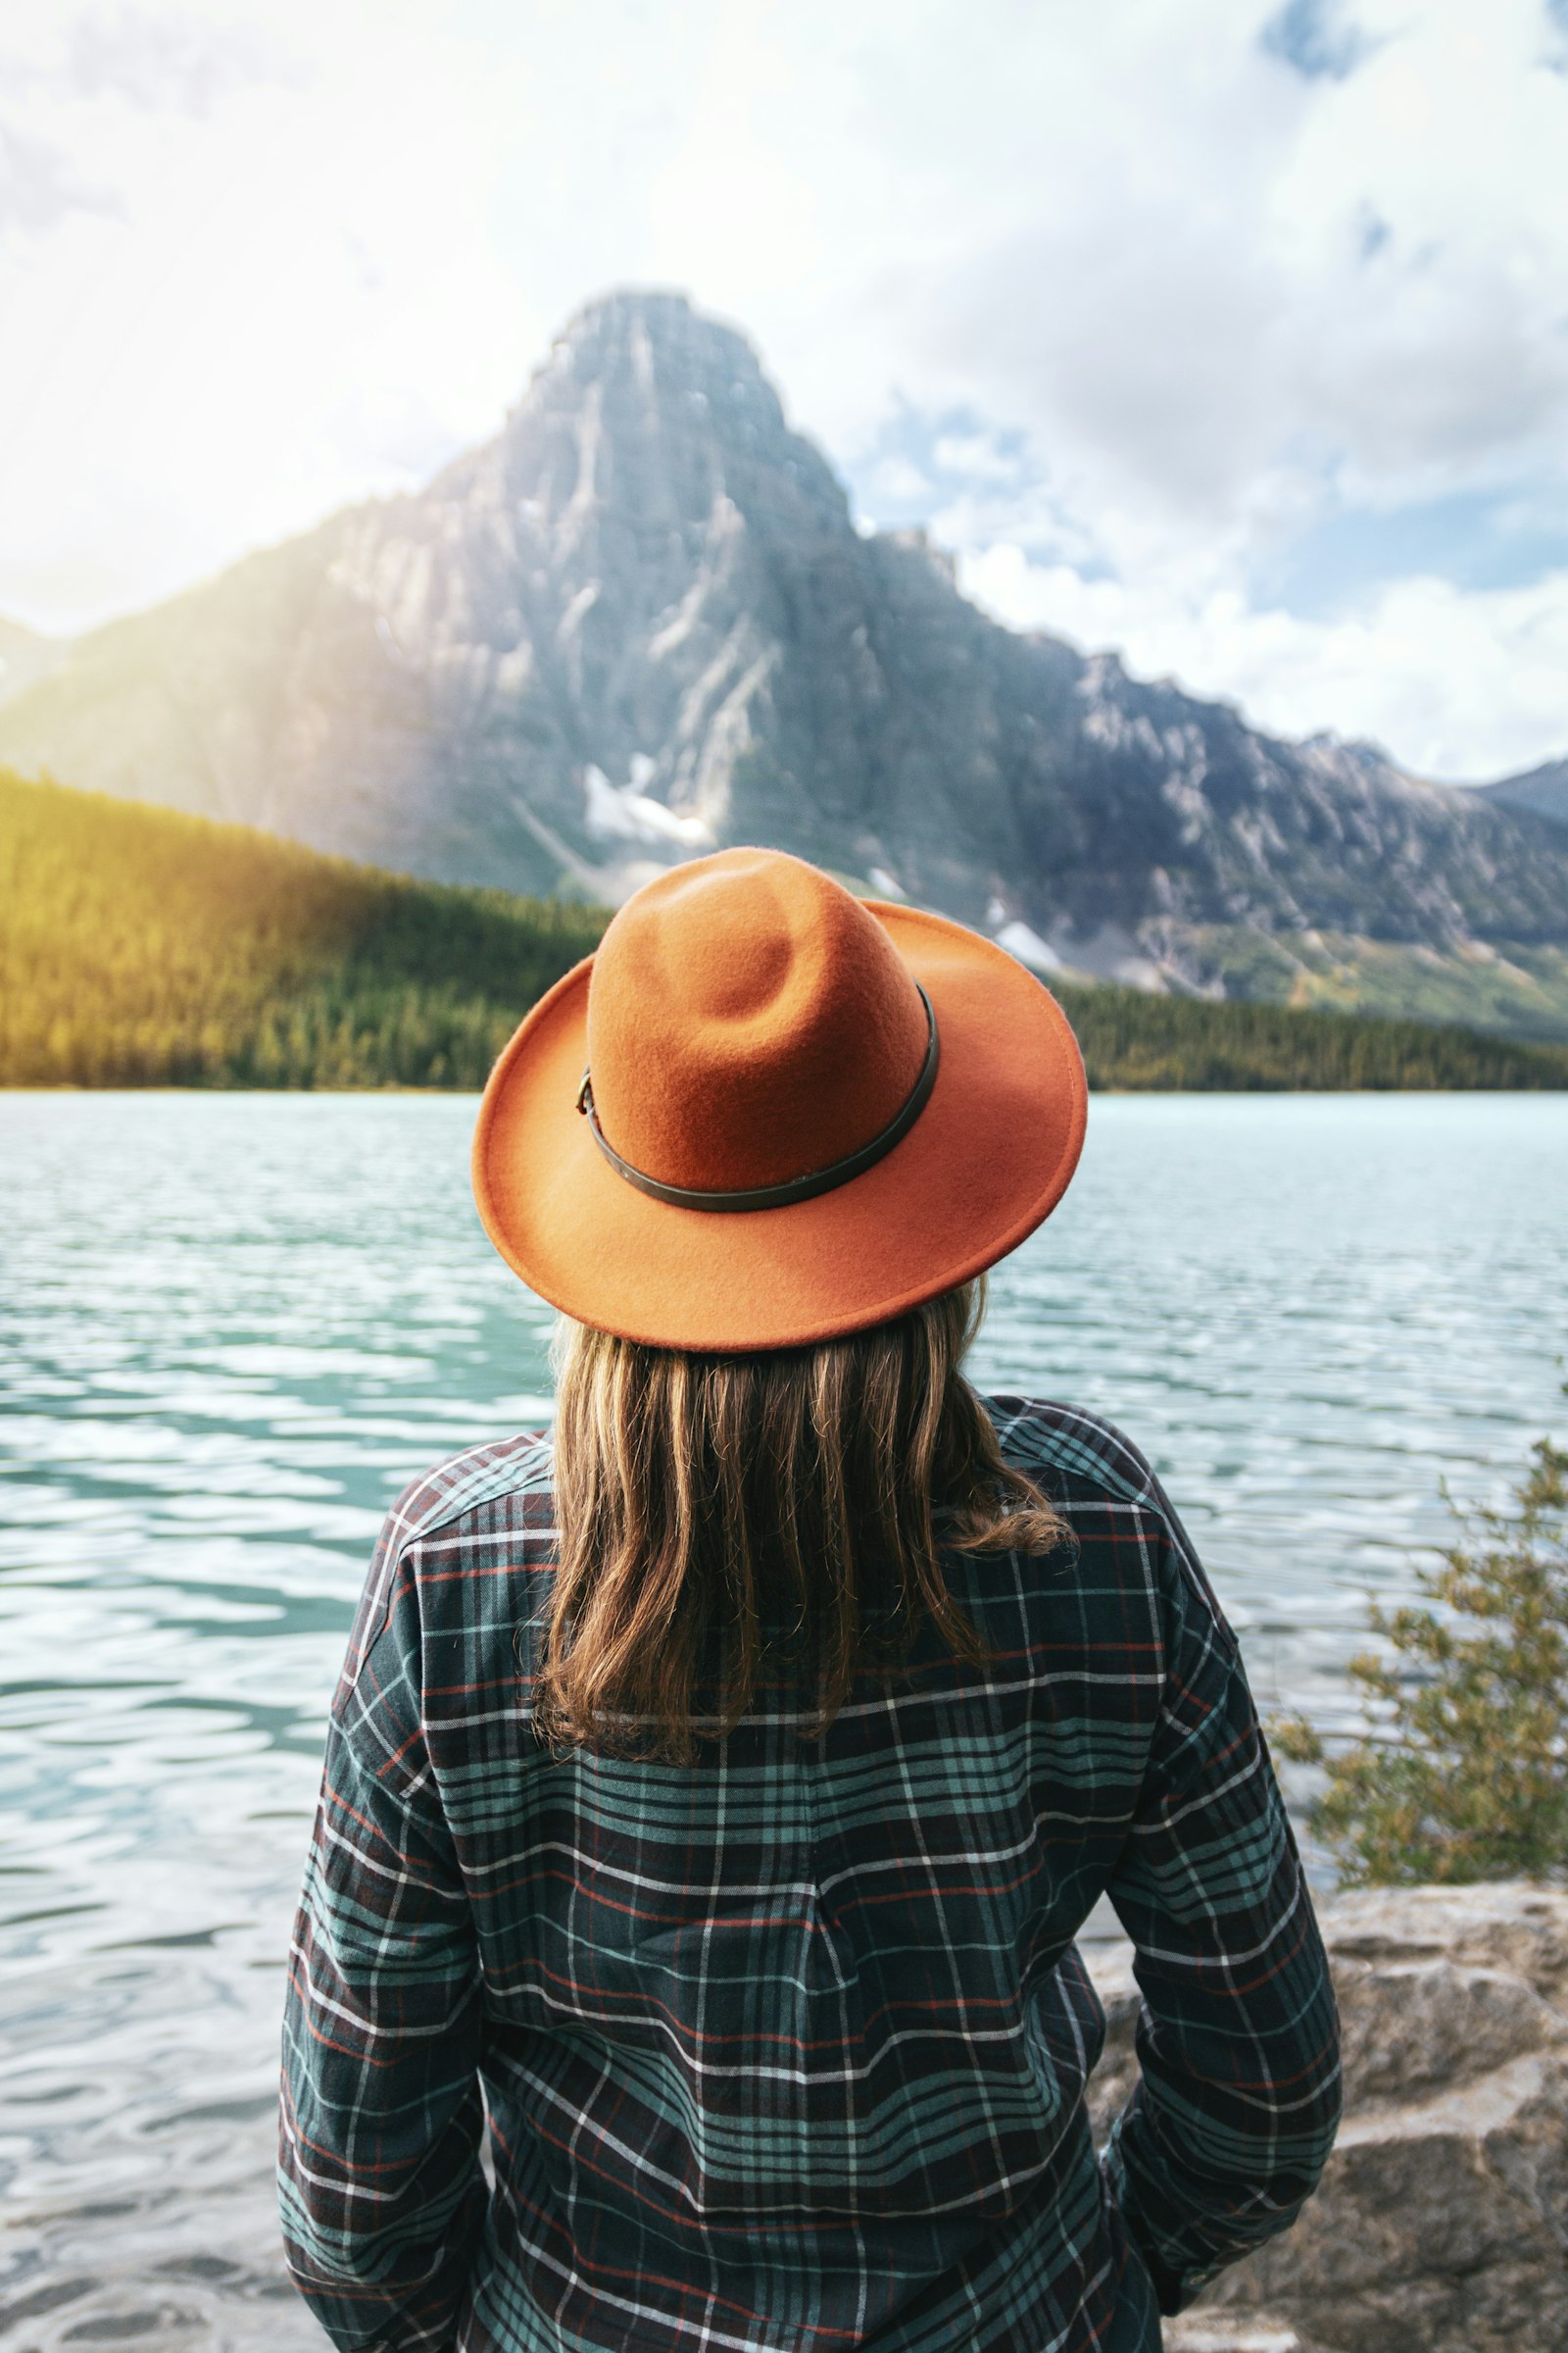
[[[1065,1525],[1001,1461],[959,1369],[983,1308],[969,1282],[870,1332],[755,1355],[562,1322],[559,1567],[536,1680],[555,1748],[691,1760],[698,1732],[745,1713],[780,1602],[809,1645],[813,1734],[858,1673],[898,1671],[926,1621],[950,1654],[987,1661],[940,1551],[1044,1553]]]

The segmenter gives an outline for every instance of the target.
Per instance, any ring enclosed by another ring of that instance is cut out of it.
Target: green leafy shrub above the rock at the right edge
[[[1462,1525],[1420,1572],[1434,1607],[1373,1609],[1394,1659],[1349,1664],[1368,1729],[1272,1727],[1326,1769],[1309,1819],[1349,1887],[1568,1873],[1568,1452],[1542,1438],[1512,1506]]]

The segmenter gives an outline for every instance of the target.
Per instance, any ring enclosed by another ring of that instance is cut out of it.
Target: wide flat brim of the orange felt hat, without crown
[[[884,1160],[783,1209],[675,1209],[618,1176],[576,1108],[592,958],[541,998],[491,1071],[473,1144],[484,1231],[541,1299],[658,1348],[806,1346],[969,1282],[1051,1214],[1088,1111],[1067,1016],[978,932],[870,911],[936,1007],[936,1087]]]

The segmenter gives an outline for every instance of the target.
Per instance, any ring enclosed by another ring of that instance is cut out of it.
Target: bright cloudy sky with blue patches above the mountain
[[[0,616],[423,482],[623,285],[1018,628],[1568,753],[1568,0],[5,9]]]

